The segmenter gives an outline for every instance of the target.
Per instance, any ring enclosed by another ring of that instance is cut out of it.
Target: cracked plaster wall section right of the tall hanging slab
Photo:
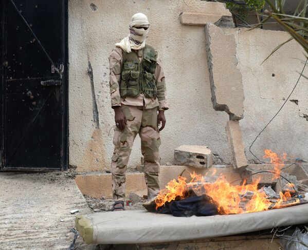
[[[263,60],[281,43],[289,39],[283,31],[240,29],[237,38],[237,56],[244,86],[244,119],[240,121],[246,156],[255,159],[249,146],[264,126],[291,93],[303,69],[303,49],[295,42],[289,42]],[[302,62],[301,62],[302,61]],[[275,76],[272,76],[272,74]],[[304,75],[308,75],[306,66]],[[308,80],[301,78],[290,100],[278,116],[269,124],[252,146],[252,152],[262,159],[263,149],[269,148],[280,155],[287,153],[290,160],[308,160]]]

